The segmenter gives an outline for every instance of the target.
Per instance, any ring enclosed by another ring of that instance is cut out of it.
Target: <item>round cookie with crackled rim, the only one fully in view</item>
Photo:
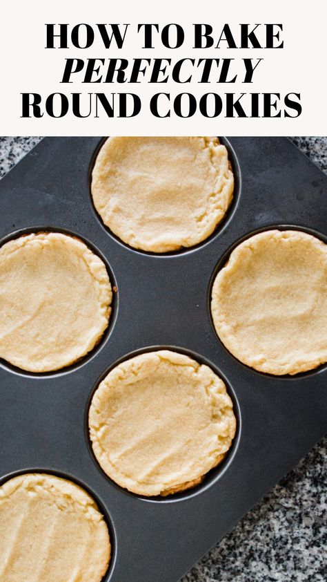
[[[224,382],[194,359],[159,350],[122,362],[93,395],[89,426],[103,471],[135,494],[194,487],[226,455],[236,420]]]

